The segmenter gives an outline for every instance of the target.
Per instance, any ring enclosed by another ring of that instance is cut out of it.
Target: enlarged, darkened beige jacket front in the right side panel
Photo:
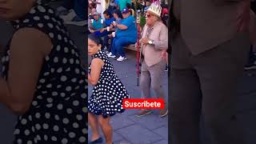
[[[234,38],[242,0],[174,0],[181,35],[194,55]]]

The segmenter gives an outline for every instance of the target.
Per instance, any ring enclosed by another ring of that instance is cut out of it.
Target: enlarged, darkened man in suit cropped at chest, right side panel
[[[200,144],[200,118],[212,144],[244,144],[235,90],[250,50],[250,1],[174,0],[173,10],[172,144]]]

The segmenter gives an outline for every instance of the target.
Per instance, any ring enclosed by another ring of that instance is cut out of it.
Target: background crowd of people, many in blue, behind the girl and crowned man
[[[88,6],[88,30],[103,39],[103,49],[107,50],[110,58],[118,61],[126,60],[124,47],[136,46],[138,40],[138,18],[146,16],[153,1],[89,1]],[[104,5],[105,4],[105,5]],[[168,9],[166,3],[162,3],[160,18],[166,24]],[[141,11],[141,14],[137,12]]]

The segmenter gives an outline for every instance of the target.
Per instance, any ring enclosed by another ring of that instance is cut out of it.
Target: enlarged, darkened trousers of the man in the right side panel
[[[172,42],[169,84],[172,144],[200,144],[201,120],[211,144],[245,143],[235,100],[249,50],[249,36],[238,34],[192,55],[178,34]]]

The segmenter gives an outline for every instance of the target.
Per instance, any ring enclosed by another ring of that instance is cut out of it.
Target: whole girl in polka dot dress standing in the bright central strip
[[[94,86],[93,94],[88,102],[89,124],[93,132],[90,143],[102,142],[98,132],[99,123],[106,138],[106,144],[112,144],[113,130],[110,126],[110,118],[124,111],[122,99],[129,98],[129,95],[101,48],[101,40],[94,34],[90,34],[88,54],[93,59],[89,67],[88,80]]]

